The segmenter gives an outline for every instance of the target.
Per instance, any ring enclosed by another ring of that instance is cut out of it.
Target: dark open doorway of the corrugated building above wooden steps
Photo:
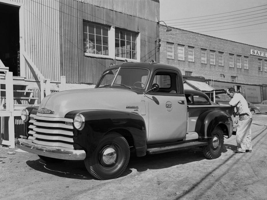
[[[0,3],[0,59],[13,76],[20,76],[19,7]]]

